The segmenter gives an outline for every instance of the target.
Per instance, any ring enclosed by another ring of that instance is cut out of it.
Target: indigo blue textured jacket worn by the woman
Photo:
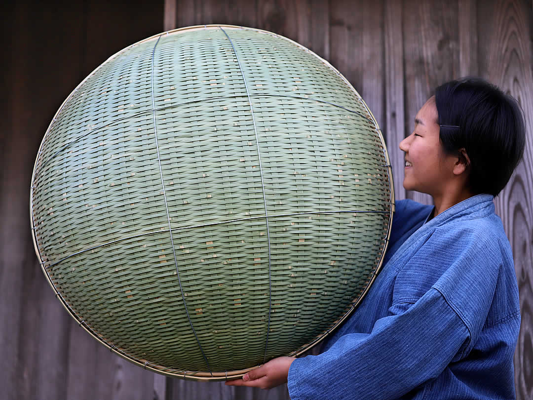
[[[431,211],[396,203],[382,271],[326,351],[292,363],[292,400],[515,397],[518,285],[493,197]]]

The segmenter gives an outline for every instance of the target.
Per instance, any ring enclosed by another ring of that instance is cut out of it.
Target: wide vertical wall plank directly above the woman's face
[[[406,131],[432,91],[458,75],[457,3],[407,0],[403,9],[405,52]],[[432,204],[429,195],[417,192],[408,197]]]

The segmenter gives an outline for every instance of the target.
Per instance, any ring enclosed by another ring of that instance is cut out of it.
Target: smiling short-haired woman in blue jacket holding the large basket
[[[400,143],[403,186],[435,206],[396,203],[383,270],[322,354],[277,358],[229,384],[287,379],[293,400],[515,397],[518,287],[493,200],[522,157],[522,111],[480,79],[435,93]]]

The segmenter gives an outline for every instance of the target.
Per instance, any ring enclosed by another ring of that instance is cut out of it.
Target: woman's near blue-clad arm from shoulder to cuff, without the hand
[[[447,226],[394,261],[389,268],[399,271],[386,316],[369,333],[348,333],[325,353],[296,359],[288,374],[291,398],[398,398],[464,357],[497,281],[500,261],[484,236]]]

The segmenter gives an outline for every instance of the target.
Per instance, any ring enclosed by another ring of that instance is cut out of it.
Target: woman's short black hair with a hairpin
[[[437,87],[435,103],[444,150],[459,154],[464,148],[470,158],[469,189],[497,196],[524,152],[520,105],[495,85],[470,77]]]

